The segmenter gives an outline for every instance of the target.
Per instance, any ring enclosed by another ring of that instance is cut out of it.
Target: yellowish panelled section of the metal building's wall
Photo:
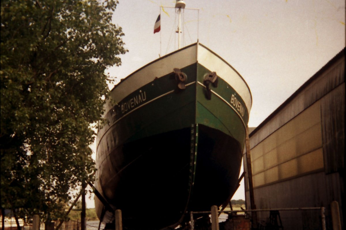
[[[254,187],[323,169],[320,103],[252,148],[251,162]]]

